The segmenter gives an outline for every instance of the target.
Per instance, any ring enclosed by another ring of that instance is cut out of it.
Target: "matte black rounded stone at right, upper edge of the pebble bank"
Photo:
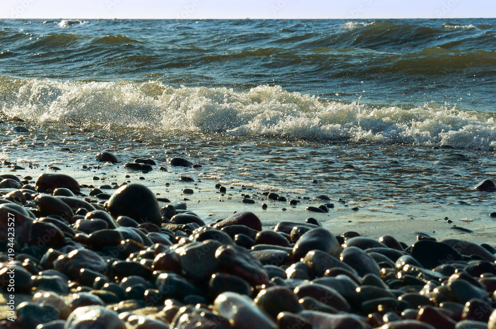
[[[430,240],[415,242],[411,254],[426,269],[433,269],[448,262],[463,260],[462,255],[453,247]]]

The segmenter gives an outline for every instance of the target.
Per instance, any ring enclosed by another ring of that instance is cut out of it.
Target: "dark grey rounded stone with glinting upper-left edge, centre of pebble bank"
[[[179,255],[179,263],[186,275],[205,280],[218,272],[219,262],[215,257],[215,251],[222,246],[216,240],[206,240],[198,243],[190,243],[176,249]]]

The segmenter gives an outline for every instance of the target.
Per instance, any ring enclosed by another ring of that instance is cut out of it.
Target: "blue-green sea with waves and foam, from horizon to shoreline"
[[[209,186],[491,227],[495,87],[496,19],[3,19],[0,170],[183,157]]]

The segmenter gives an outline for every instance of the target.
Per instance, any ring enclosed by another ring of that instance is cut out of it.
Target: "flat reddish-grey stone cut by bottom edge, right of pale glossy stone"
[[[313,329],[368,329],[364,321],[354,315],[327,314],[318,311],[302,311],[299,313],[310,322]]]

